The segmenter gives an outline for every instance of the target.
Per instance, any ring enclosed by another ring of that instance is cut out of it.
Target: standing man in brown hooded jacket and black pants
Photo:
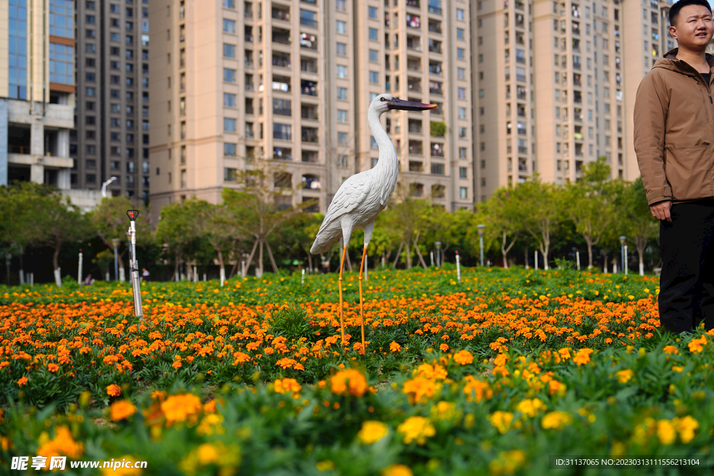
[[[678,1],[669,19],[678,48],[640,83],[635,152],[660,219],[660,322],[682,333],[714,328],[714,25],[706,0]]]

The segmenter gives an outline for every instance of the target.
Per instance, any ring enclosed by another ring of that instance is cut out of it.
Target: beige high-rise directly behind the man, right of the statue
[[[663,53],[657,2],[478,1],[472,26],[477,196],[533,173],[575,181],[599,157],[613,178],[639,175],[632,116]]]

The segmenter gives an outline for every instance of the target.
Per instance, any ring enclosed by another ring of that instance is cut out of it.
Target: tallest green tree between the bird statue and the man
[[[593,245],[613,221],[615,190],[609,176],[610,166],[601,157],[585,165],[581,180],[568,183],[562,195],[563,209],[588,245],[588,268],[593,267]]]

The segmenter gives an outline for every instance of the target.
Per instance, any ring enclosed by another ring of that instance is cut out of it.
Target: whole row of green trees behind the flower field
[[[475,210],[447,213],[432,201],[413,198],[401,183],[390,206],[377,218],[368,254],[371,263],[411,268],[431,265],[429,252],[441,242],[441,255],[458,250],[463,263],[475,265],[480,253],[477,225],[486,225],[486,254],[508,267],[528,265],[529,250],[538,249],[545,268],[555,255],[568,255],[575,247],[588,250],[588,266],[596,251],[607,266],[608,256],[619,256],[619,236],[634,243],[643,269],[645,252],[656,238],[658,223],[650,215],[641,181],[625,183],[609,179],[604,161],[583,168],[575,183],[555,186],[533,180],[512,188],[500,188]],[[141,265],[173,263],[172,279],[181,276],[181,263],[216,263],[221,276],[238,271],[262,275],[265,260],[274,273],[293,263],[318,268],[309,253],[322,216],[307,213],[311,203],[289,206],[294,193],[283,171],[268,162],[238,173],[240,191],[224,189],[223,203],[213,205],[190,198],[161,209],[158,223],[151,223],[148,208],[129,198],[104,198],[91,213],[63,198],[59,191],[34,183],[0,188],[0,251],[22,255],[28,248],[44,247],[52,253],[52,266],[59,268],[61,248],[71,243],[95,244],[94,263],[106,270],[114,260],[113,238],[119,238],[118,262],[124,269],[126,210],[140,211],[137,247]],[[353,234],[350,253],[361,255],[362,234]],[[514,258],[516,249],[524,258]],[[337,264],[338,244],[322,257],[322,263]],[[337,252],[337,253],[336,253]],[[658,257],[657,257],[658,259]],[[149,262],[151,261],[151,262]],[[280,263],[280,267],[278,266]],[[351,269],[351,262],[346,266]],[[120,274],[123,275],[124,273]],[[59,273],[56,281],[60,284]]]

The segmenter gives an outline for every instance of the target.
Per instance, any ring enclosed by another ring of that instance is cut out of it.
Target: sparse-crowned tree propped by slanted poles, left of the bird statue
[[[268,238],[279,226],[311,206],[311,203],[288,206],[294,191],[289,185],[288,174],[274,161],[256,158],[249,164],[251,168],[236,174],[236,182],[241,185],[241,190],[223,188],[222,197],[228,209],[236,216],[238,231],[253,237],[253,249],[248,255],[246,271],[257,249],[256,275],[260,277],[263,275],[263,250],[268,252],[273,273],[278,272]]]

